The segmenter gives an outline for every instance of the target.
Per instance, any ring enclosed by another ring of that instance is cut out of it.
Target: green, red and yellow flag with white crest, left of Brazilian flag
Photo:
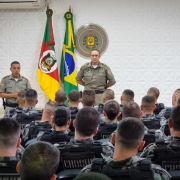
[[[55,42],[52,28],[53,11],[47,9],[46,14],[47,21],[38,63],[37,76],[38,83],[47,98],[54,101],[55,93],[60,89],[60,84],[56,54],[54,50]]]

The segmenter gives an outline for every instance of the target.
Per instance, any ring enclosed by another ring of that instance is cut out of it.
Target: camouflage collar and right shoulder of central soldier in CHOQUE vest
[[[78,144],[92,144],[93,139],[84,139],[84,140],[77,140],[72,138],[70,142],[68,143],[69,145],[74,145],[77,147]],[[113,156],[113,151],[114,151],[114,146],[109,142],[109,143],[102,143],[102,149],[103,149],[103,155],[104,156]]]

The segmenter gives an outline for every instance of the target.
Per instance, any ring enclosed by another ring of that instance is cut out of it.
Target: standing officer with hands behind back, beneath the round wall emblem
[[[116,83],[111,69],[101,63],[100,51],[94,49],[90,53],[91,62],[85,63],[76,76],[78,84],[85,87],[85,90],[94,90],[96,93],[96,104],[102,102],[102,94],[105,89]]]

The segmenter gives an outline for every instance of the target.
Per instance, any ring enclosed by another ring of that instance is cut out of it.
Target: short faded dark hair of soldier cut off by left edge
[[[20,124],[13,118],[0,119],[0,149],[10,149],[17,146],[20,128]]]

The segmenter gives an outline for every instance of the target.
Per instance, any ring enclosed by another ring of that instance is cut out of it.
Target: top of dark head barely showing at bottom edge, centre
[[[111,180],[108,176],[100,173],[84,173],[77,175],[73,180]]]

